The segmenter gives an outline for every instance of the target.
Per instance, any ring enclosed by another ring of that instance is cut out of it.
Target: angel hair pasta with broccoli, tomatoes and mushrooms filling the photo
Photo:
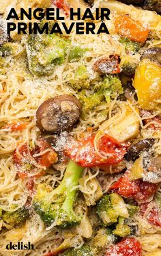
[[[48,6],[68,18],[74,4]],[[111,50],[101,54],[94,38],[86,44],[59,34],[1,36],[0,235],[15,243],[30,238],[35,246],[17,255],[161,254],[161,39],[149,25],[154,20],[143,24],[133,15],[150,13],[161,24],[161,5],[107,4],[113,29],[102,43]],[[117,12],[117,5],[129,13]],[[0,31],[5,34],[2,25]],[[22,62],[25,71],[12,73]],[[7,83],[15,86],[9,94]],[[14,105],[8,120],[3,113]],[[7,177],[11,183],[3,183]]]

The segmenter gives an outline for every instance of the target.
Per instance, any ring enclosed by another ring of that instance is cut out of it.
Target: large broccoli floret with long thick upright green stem
[[[33,207],[46,225],[55,222],[55,226],[69,228],[81,221],[81,216],[74,212],[74,199],[78,179],[83,167],[70,160],[61,184],[53,190],[49,185],[39,184],[33,200]]]

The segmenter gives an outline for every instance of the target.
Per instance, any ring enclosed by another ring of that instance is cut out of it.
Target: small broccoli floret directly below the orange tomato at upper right
[[[135,54],[139,51],[139,49],[141,49],[141,44],[139,44],[138,42],[133,42],[129,38],[121,37],[119,39],[119,42],[124,45],[126,53]]]

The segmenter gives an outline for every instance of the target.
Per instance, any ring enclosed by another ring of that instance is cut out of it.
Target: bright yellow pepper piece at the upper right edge
[[[151,60],[142,60],[136,68],[133,85],[143,109],[157,107],[161,99],[161,67]]]

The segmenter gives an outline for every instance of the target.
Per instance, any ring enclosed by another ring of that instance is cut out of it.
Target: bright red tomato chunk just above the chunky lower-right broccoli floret
[[[137,194],[140,188],[137,181],[130,181],[128,175],[125,174],[111,186],[111,190],[117,190],[121,196],[130,197]]]

